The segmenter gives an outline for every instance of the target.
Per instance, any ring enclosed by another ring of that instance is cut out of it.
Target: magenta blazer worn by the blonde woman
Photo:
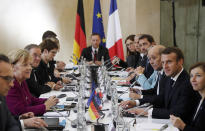
[[[21,85],[14,81],[14,86],[6,96],[6,102],[13,115],[19,116],[23,113],[33,112],[35,115],[43,115],[46,111],[44,102],[46,99],[35,98],[29,92],[26,81]]]

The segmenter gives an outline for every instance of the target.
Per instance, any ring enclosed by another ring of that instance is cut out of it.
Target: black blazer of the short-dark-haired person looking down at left
[[[36,68],[36,76],[40,85],[45,85],[49,81],[56,83],[62,80],[62,78],[54,76],[55,61],[50,61],[48,65],[41,60],[39,66]]]

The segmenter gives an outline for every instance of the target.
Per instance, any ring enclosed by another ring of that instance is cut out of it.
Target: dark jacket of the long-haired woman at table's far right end
[[[138,62],[139,62],[139,57],[140,57],[140,54],[138,52],[133,53],[133,54],[127,56],[126,62],[123,60],[120,60],[118,65],[123,67],[123,68],[127,68],[127,67],[136,68],[138,65]]]

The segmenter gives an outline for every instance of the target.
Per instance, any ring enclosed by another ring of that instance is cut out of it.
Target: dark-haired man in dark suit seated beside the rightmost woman
[[[168,47],[162,52],[161,61],[168,77],[164,81],[164,93],[154,97],[154,108],[144,114],[160,119],[168,119],[170,114],[174,114],[189,123],[197,105],[197,92],[192,89],[189,75],[183,69],[183,53],[178,48]],[[137,108],[130,112],[139,114],[143,111]]]

